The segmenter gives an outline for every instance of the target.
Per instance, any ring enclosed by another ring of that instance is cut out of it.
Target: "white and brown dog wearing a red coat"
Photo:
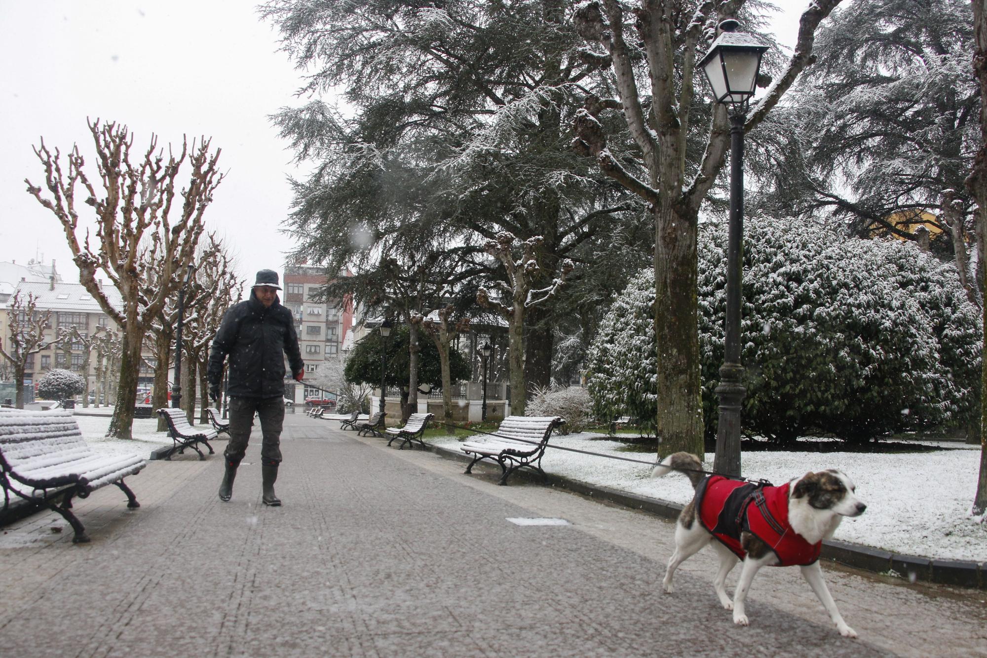
[[[859,517],[867,509],[857,497],[853,481],[839,470],[822,470],[775,487],[763,481],[707,477],[702,466],[695,454],[675,452],[651,473],[662,477],[681,470],[696,490],[675,523],[675,551],[662,581],[664,591],[673,592],[675,569],[712,543],[720,554],[714,587],[723,608],[733,611],[733,623],[748,625],[744,601],[761,567],[798,565],[840,634],[857,637],[837,610],[819,567],[822,540],[836,532],[843,517]],[[724,584],[740,560],[743,567],[731,601]]]

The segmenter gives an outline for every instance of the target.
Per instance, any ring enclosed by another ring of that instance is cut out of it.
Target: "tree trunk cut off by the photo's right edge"
[[[987,0],[973,2],[973,36],[976,48],[973,52],[973,75],[980,84],[980,98],[987,98]],[[966,179],[966,187],[977,202],[977,267],[981,286],[987,282],[987,103],[980,104],[980,148],[973,161],[973,169]],[[983,296],[981,289],[981,296]],[[987,303],[981,306],[984,326],[987,326]],[[987,338],[984,341],[987,348]],[[987,360],[983,364],[980,395],[980,474],[977,477],[976,494],[973,497],[973,514],[987,512]]]

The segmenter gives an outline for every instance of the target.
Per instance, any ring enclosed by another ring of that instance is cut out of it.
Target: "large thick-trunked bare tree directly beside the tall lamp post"
[[[747,115],[744,129],[761,123],[811,62],[815,30],[840,0],[814,0],[799,20],[792,59]],[[654,217],[654,326],[658,354],[657,431],[663,450],[703,451],[703,408],[696,288],[699,210],[712,190],[729,147],[726,110],[717,105],[707,128],[694,111],[697,57],[723,19],[745,0],[592,0],[576,10],[587,53],[611,67],[617,98],[589,96],[576,116],[577,152],[650,205]],[[752,5],[756,3],[750,3]],[[627,11],[631,9],[631,11]],[[643,89],[642,89],[643,87]],[[638,147],[641,170],[615,157],[604,124],[620,113]],[[606,115],[606,120],[601,122]],[[697,148],[697,145],[699,148]],[[699,153],[702,153],[699,156]]]

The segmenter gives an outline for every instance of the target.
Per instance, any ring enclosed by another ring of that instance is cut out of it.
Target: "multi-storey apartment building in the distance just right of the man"
[[[345,276],[345,275],[343,275]],[[295,331],[305,360],[302,385],[285,382],[285,396],[297,404],[307,397],[322,395],[314,379],[326,362],[340,359],[343,340],[353,326],[353,307],[349,300],[317,302],[313,299],[328,280],[325,268],[293,265],[284,270],[281,303],[295,318]]]

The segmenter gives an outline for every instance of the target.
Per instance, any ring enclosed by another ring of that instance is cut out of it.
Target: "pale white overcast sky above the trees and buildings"
[[[807,0],[778,4],[793,7],[777,23],[791,45]],[[291,244],[277,228],[295,169],[267,117],[298,103],[301,79],[255,3],[5,0],[0,61],[0,261],[54,259],[67,281],[78,281],[60,224],[24,179],[43,187],[32,151],[41,135],[49,149],[78,143],[91,152],[88,117],[125,123],[134,150],[152,132],[166,147],[180,147],[183,134],[211,137],[227,177],[206,210],[209,229],[238,256],[241,278],[282,270]],[[87,165],[95,177],[92,158]]]

